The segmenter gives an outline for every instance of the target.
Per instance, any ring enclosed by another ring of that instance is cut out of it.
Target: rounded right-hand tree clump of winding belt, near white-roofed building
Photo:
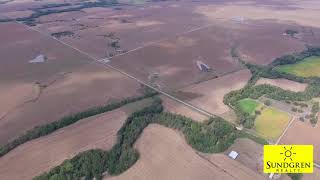
[[[218,117],[198,123],[184,116],[161,113],[153,122],[180,130],[194,149],[205,153],[222,152],[237,138],[235,127]]]

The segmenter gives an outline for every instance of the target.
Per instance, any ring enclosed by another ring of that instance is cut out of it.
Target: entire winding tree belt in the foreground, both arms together
[[[118,175],[131,167],[139,158],[139,153],[133,149],[133,144],[139,138],[143,129],[150,123],[157,123],[181,131],[187,142],[196,150],[207,153],[225,151],[238,137],[252,138],[265,144],[262,139],[236,129],[221,118],[211,118],[204,123],[195,122],[185,116],[164,113],[160,98],[154,98],[153,103],[129,116],[118,131],[117,143],[109,151],[99,149],[89,150],[64,161],[35,180],[71,180],[71,179],[101,179],[104,172]]]

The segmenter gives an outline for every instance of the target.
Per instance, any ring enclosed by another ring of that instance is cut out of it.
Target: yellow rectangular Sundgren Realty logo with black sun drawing
[[[312,173],[312,145],[265,145],[265,173]]]

